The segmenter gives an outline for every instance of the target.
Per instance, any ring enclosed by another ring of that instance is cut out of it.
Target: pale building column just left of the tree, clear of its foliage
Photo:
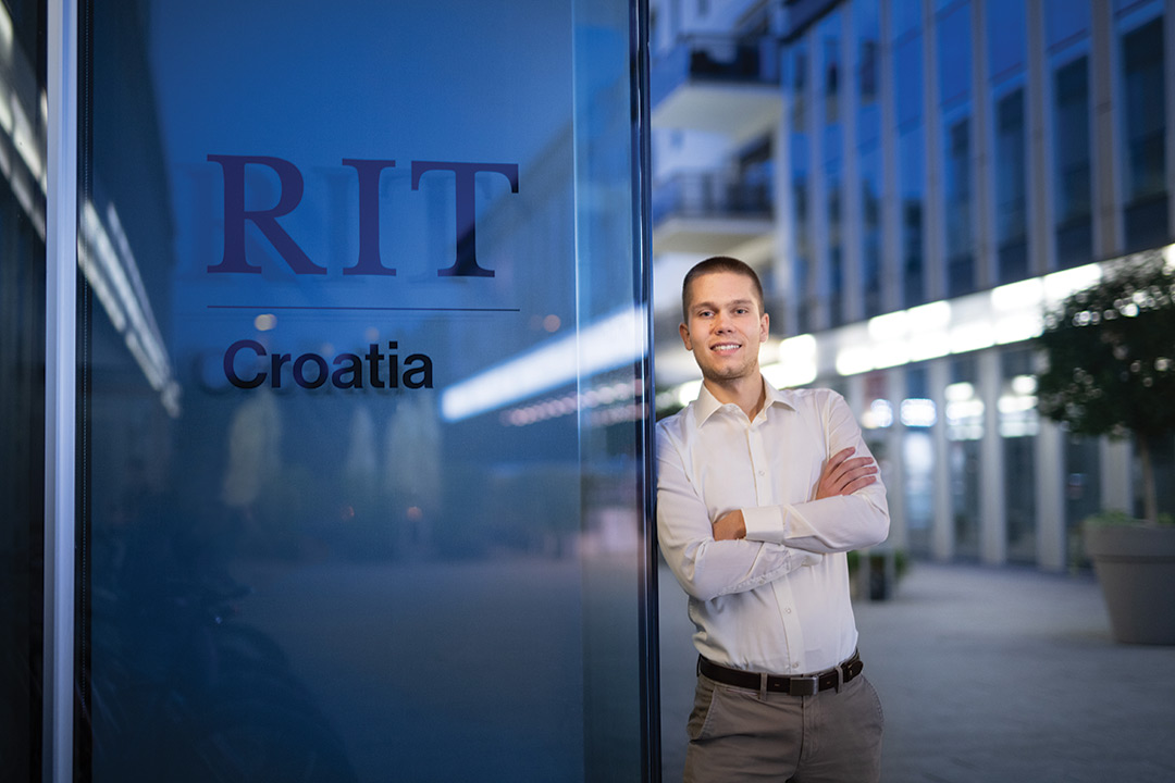
[[[1007,560],[1008,525],[1003,481],[1003,438],[1000,437],[1000,352],[991,349],[976,357],[979,397],[983,400],[983,440],[980,445],[979,558],[1000,565]]]

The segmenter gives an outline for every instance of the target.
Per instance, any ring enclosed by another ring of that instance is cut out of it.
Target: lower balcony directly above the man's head
[[[770,177],[678,174],[653,187],[652,218],[653,252],[754,255],[746,245],[773,231]]]

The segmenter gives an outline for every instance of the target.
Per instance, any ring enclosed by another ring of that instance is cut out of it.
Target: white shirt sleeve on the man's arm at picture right
[[[840,394],[830,392],[820,413],[830,457],[848,447],[854,450],[853,457],[873,457]],[[744,508],[743,518],[748,541],[824,554],[871,547],[889,534],[889,508],[880,477],[850,495]]]

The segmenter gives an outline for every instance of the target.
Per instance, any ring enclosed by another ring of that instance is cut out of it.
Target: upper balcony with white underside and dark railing
[[[652,66],[654,128],[705,130],[736,144],[779,122],[779,45],[721,35],[684,38]]]

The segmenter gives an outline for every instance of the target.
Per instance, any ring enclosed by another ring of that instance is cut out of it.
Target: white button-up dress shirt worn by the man
[[[825,461],[871,455],[852,411],[828,389],[776,390],[751,421],[703,386],[657,425],[657,532],[690,595],[694,646],[716,663],[772,674],[832,668],[857,648],[845,552],[889,532],[880,478],[813,500]],[[711,525],[741,509],[746,538]]]

